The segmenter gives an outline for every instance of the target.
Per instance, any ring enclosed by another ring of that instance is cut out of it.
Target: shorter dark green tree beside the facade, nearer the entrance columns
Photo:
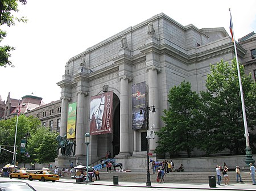
[[[165,109],[162,120],[166,124],[156,134],[159,145],[155,152],[175,154],[186,151],[188,157],[197,146],[197,127],[199,126],[200,98],[191,90],[189,82],[181,82],[180,86],[171,88],[168,94],[169,108]]]

